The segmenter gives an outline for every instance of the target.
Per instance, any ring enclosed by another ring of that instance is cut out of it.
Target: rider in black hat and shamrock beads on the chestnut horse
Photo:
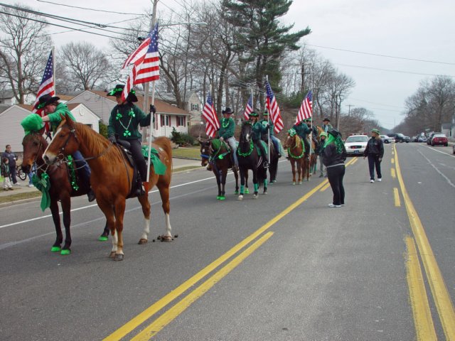
[[[147,180],[147,163],[141,151],[141,138],[139,132],[140,126],[149,126],[151,123],[151,114],[144,114],[134,102],[137,102],[137,97],[134,90],[129,92],[127,99],[122,99],[124,85],[116,85],[107,96],[115,96],[117,105],[112,109],[109,117],[109,126],[107,126],[107,136],[112,143],[127,141],[129,143],[129,151],[132,153],[134,163],[136,163],[142,182]],[[155,114],[154,105],[151,106],[151,112]],[[144,186],[141,186],[142,189]]]

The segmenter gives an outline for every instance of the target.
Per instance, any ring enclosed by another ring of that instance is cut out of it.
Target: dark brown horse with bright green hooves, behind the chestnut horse
[[[70,197],[78,197],[80,195],[87,194],[90,190],[90,186],[85,183],[79,183],[78,187],[73,188],[70,180],[70,171],[66,163],[62,163],[58,166],[47,166],[41,156],[43,155],[45,148],[48,147],[48,142],[44,139],[43,130],[33,131],[30,134],[27,134],[22,139],[23,146],[23,160],[21,168],[24,173],[30,173],[33,165],[36,165],[36,175],[38,178],[41,178],[43,173],[49,175],[49,197],[50,197],[50,213],[52,214],[52,219],[55,225],[55,232],[57,237],[55,238],[55,243],[51,247],[50,251],[58,252],[60,254],[67,255],[71,254],[71,200]],[[62,207],[63,212],[63,225],[65,226],[65,244],[63,248],[61,244],[63,242],[62,229],[60,227],[60,215],[58,214],[58,201]],[[107,224],[105,229],[102,232],[101,236],[98,238],[100,241],[107,240],[109,235],[109,229]]]

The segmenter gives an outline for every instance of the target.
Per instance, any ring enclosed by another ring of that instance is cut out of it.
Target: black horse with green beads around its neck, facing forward
[[[264,183],[263,194],[267,194],[267,169],[263,166],[267,156],[259,157],[257,148],[252,140],[252,125],[249,121],[242,123],[240,141],[237,147],[237,158],[240,170],[240,195],[238,196],[238,200],[243,200],[245,179],[247,179],[248,170],[251,170],[253,173],[253,184],[255,185],[253,198],[257,199],[259,183]]]

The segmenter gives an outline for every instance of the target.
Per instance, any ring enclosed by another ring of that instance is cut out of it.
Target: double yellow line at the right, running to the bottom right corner
[[[432,291],[434,303],[437,307],[439,319],[446,336],[446,340],[455,341],[455,311],[452,305],[449,292],[444,284],[441,271],[433,254],[432,247],[425,234],[424,227],[420,221],[419,215],[410,200],[405,183],[400,171],[400,163],[398,162],[398,154],[395,151],[395,167],[397,168],[397,178],[400,183],[403,201],[405,202],[407,215],[410,220],[412,237],[406,237],[407,244],[407,283],[410,290],[410,301],[412,306],[412,315],[414,317],[414,325],[417,335],[417,340],[431,341],[437,340],[436,331],[432,320],[432,313],[429,308],[427,291],[424,286],[424,277],[422,275],[419,256],[424,264],[425,274],[429,283],[429,288]]]

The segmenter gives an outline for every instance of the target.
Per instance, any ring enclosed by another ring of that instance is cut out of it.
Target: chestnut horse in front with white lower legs
[[[60,115],[61,116],[61,115]],[[48,164],[61,161],[63,155],[79,150],[88,162],[92,175],[90,182],[95,192],[97,204],[105,214],[107,225],[112,234],[112,250],[109,257],[114,261],[124,259],[123,252],[123,218],[126,199],[132,191],[134,167],[129,164],[123,151],[117,144],[112,144],[104,136],[98,134],[85,124],[80,124],[70,117],[62,117],[55,137],[45,149],[43,159]],[[146,244],[150,227],[149,189],[155,185],[161,195],[161,202],[166,217],[166,234],[159,238],[163,242],[171,242],[171,223],[169,221],[169,188],[172,176],[171,142],[166,137],[155,139],[153,148],[166,171],[158,175],[150,165],[150,178],[144,183],[145,192],[137,196],[144,215],[144,231],[138,244]]]

